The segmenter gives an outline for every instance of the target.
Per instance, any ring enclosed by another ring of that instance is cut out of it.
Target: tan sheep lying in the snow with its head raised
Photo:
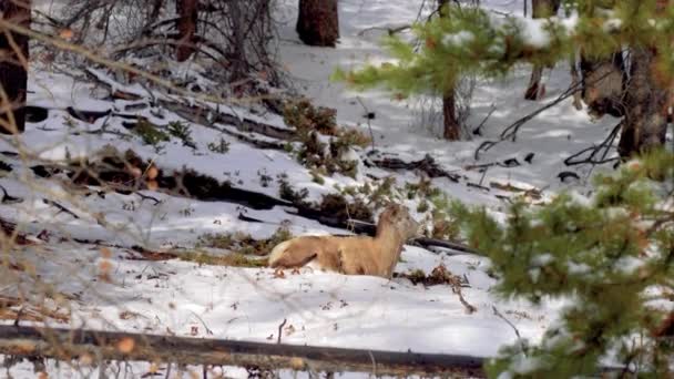
[[[305,236],[278,244],[269,255],[270,267],[300,267],[308,263],[348,275],[390,278],[402,244],[419,224],[407,208],[389,205],[379,217],[376,237]]]

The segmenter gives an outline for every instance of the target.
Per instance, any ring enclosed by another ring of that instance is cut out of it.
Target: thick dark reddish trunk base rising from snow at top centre
[[[337,0],[299,0],[299,39],[315,47],[335,47],[339,39]]]

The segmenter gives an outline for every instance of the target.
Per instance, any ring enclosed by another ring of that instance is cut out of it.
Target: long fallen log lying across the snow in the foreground
[[[151,361],[374,376],[483,377],[483,358],[115,331],[0,326],[0,354],[24,358]]]

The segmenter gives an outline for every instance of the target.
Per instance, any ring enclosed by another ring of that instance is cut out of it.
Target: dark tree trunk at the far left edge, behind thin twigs
[[[24,28],[30,28],[30,0],[0,0],[0,17]],[[21,133],[25,129],[28,37],[0,30],[0,57],[3,57],[0,60],[0,86],[4,92],[0,92],[0,133]]]

